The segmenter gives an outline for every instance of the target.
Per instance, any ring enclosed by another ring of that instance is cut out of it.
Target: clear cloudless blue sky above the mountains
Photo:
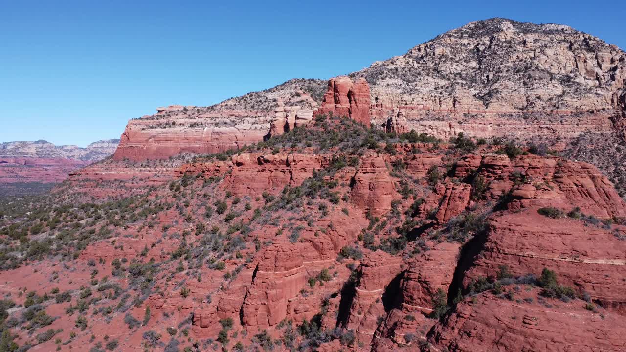
[[[626,48],[626,6],[589,1],[0,0],[0,142],[119,138],[162,105],[329,78],[449,29],[563,23]]]

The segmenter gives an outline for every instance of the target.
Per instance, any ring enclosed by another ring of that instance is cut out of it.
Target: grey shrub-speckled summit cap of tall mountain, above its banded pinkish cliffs
[[[490,18],[352,77],[366,78],[374,94],[393,91],[423,100],[421,105],[433,105],[429,96],[452,95],[470,110],[532,111],[612,109],[624,72],[625,53],[590,34],[563,24]],[[457,105],[450,101],[448,109]]]

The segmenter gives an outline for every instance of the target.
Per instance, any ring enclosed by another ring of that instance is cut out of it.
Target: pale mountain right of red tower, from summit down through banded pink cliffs
[[[587,128],[612,128],[613,112],[607,110],[620,108],[625,65],[617,46],[568,26],[493,18],[444,33],[355,76],[370,83],[377,125],[401,110],[409,129],[446,138],[459,132],[568,138]]]

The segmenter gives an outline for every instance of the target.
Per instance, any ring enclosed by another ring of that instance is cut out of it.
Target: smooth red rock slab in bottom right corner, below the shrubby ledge
[[[490,293],[465,299],[434,326],[431,351],[623,351],[622,316],[600,316],[581,301],[546,306],[537,301],[537,289],[515,296],[520,301]]]

